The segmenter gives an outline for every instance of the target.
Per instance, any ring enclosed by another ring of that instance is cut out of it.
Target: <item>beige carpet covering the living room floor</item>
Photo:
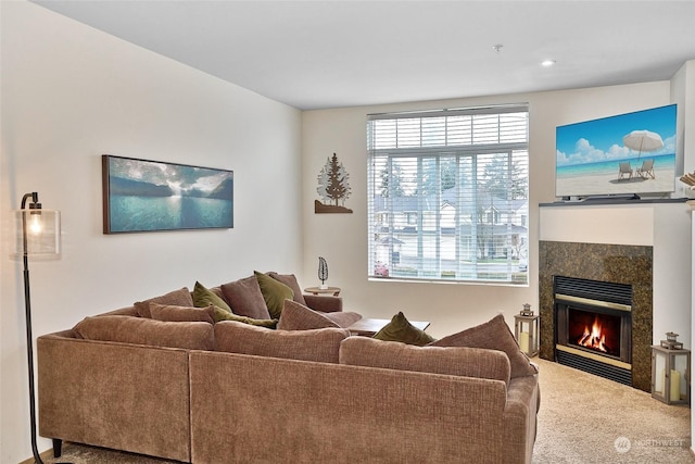
[[[690,453],[691,410],[556,363],[541,369],[541,411],[533,463],[695,463]],[[618,447],[616,446],[618,442]],[[163,464],[172,461],[67,443],[74,464]]]

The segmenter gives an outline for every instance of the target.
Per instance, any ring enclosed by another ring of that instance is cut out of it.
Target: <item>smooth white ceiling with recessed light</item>
[[[695,59],[694,0],[34,2],[302,110],[668,80]]]

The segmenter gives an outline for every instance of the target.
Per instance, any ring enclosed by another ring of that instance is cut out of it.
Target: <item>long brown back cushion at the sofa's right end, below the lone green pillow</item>
[[[490,378],[509,385],[509,360],[495,350],[464,347],[415,347],[368,337],[340,343],[340,364]]]

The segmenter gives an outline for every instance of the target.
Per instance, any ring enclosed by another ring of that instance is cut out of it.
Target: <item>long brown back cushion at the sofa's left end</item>
[[[155,347],[212,350],[213,325],[202,322],[163,322],[132,316],[86,317],[74,328],[78,338]]]

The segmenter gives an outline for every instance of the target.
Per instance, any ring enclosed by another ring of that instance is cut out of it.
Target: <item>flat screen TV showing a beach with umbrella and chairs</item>
[[[674,191],[675,104],[555,130],[556,197]]]

